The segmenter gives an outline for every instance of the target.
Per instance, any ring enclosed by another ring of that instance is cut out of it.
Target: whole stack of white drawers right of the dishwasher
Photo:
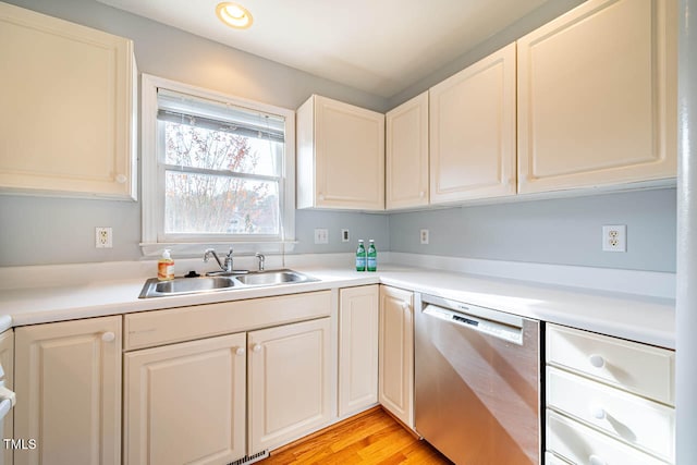
[[[547,449],[572,463],[674,463],[675,353],[547,325]]]

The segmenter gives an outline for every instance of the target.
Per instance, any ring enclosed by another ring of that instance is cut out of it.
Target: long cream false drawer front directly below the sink
[[[329,316],[331,291],[126,315],[126,351]]]

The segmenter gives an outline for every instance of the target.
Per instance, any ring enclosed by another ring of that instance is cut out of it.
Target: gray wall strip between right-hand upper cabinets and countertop
[[[674,188],[450,208],[391,215],[390,249],[675,272],[675,220]],[[627,225],[626,253],[601,250],[603,224]]]

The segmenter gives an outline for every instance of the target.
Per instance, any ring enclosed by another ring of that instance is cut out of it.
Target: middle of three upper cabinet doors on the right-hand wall
[[[515,44],[429,94],[431,204],[515,194]]]

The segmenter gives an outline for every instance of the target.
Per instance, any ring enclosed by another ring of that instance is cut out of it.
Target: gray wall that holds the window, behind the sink
[[[138,71],[295,109],[311,94],[376,111],[387,99],[366,94],[198,36],[136,16],[95,0],[9,0],[30,10],[134,40]],[[337,223],[341,213],[298,215],[297,249],[314,252],[317,222]],[[325,219],[326,218],[326,219]],[[377,234],[386,219],[352,213],[343,223]],[[113,248],[97,249],[95,227],[113,229]],[[339,233],[337,233],[339,234]],[[367,233],[366,233],[367,234]],[[387,237],[387,228],[382,232]],[[309,237],[310,242],[306,242]],[[140,204],[0,195],[0,266],[134,260],[140,258]],[[387,241],[386,241],[387,242]],[[331,246],[331,244],[330,244]],[[317,252],[335,252],[318,246]]]

